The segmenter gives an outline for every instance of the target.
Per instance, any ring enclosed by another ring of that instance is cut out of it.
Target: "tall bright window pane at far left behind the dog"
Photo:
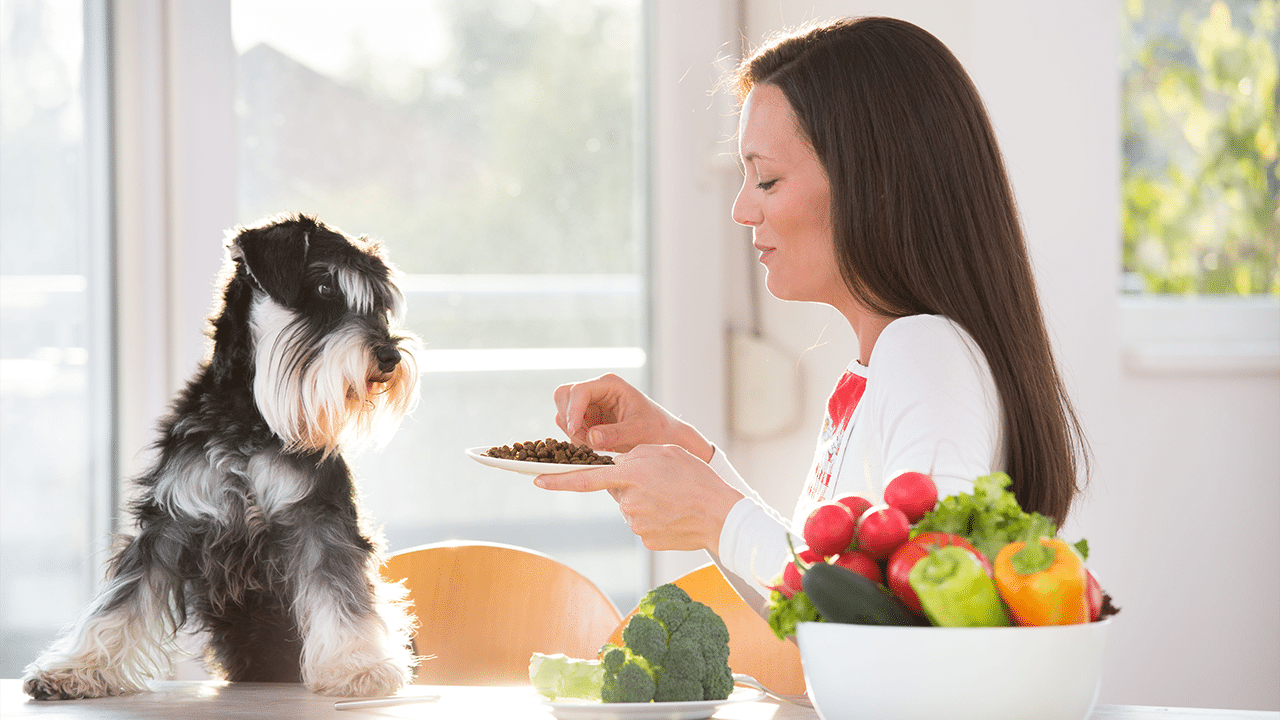
[[[114,505],[106,26],[0,4],[0,674],[88,601]]]

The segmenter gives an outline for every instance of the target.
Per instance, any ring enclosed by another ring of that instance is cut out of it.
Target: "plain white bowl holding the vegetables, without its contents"
[[[1110,625],[801,623],[796,639],[823,720],[1084,720],[1102,687]]]

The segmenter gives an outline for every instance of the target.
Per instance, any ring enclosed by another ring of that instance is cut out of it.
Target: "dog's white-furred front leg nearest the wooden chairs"
[[[332,696],[392,694],[411,679],[406,615],[372,568],[369,541],[348,523],[297,528],[294,612],[302,630],[302,682]]]

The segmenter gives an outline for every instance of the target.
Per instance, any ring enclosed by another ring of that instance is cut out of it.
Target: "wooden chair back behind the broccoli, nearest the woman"
[[[780,641],[768,621],[739,597],[719,568],[707,564],[672,582],[724,620],[728,626],[728,666],[735,673],[751,675],[780,693],[805,692],[800,648],[792,641]],[[635,610],[628,612],[627,619],[634,614]],[[608,642],[622,644],[625,625],[626,620],[620,623]]]

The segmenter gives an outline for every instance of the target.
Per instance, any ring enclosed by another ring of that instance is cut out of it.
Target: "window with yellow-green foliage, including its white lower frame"
[[[1125,0],[1125,366],[1280,372],[1276,0]]]

